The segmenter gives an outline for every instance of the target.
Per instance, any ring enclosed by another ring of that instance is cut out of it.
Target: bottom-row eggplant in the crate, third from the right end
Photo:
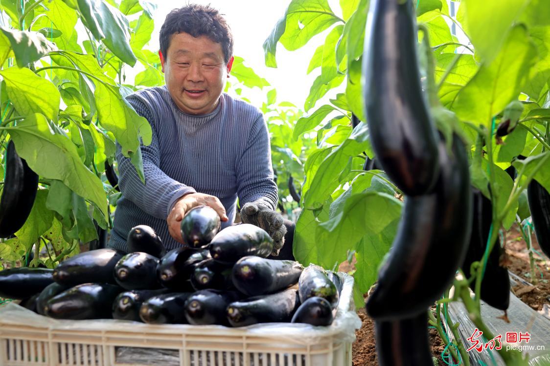
[[[185,318],[194,325],[226,325],[229,322],[226,308],[229,303],[239,300],[233,291],[200,290],[185,301]]]

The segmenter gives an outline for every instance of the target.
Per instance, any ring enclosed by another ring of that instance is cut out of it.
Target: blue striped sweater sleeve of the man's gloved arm
[[[254,121],[237,163],[237,181],[241,207],[248,202],[261,201],[276,209],[278,188],[273,181],[270,138],[262,114]]]

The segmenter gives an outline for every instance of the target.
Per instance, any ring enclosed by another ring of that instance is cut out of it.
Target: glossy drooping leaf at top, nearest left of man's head
[[[101,0],[77,0],[86,27],[123,62],[134,66],[137,58],[130,47],[129,24],[117,8]]]

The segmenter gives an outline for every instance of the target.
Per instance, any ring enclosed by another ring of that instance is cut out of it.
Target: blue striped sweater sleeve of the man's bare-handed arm
[[[123,156],[122,148],[117,142],[116,157],[120,192],[122,192],[125,198],[128,198],[140,209],[144,210],[144,212],[159,219],[166,219],[178,198],[188,193],[195,193],[196,191],[193,187],[173,180],[159,168],[160,151],[152,113],[144,103],[136,101],[133,98],[128,101],[139,115],[149,121],[153,134],[151,145],[144,146],[141,143],[145,184],[139,178],[130,158]]]

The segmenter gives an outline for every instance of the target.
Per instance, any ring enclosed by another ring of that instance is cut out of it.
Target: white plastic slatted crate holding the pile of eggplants
[[[349,366],[361,321],[353,278],[328,327],[266,323],[245,328],[55,320],[16,304],[0,308],[0,365]]]

